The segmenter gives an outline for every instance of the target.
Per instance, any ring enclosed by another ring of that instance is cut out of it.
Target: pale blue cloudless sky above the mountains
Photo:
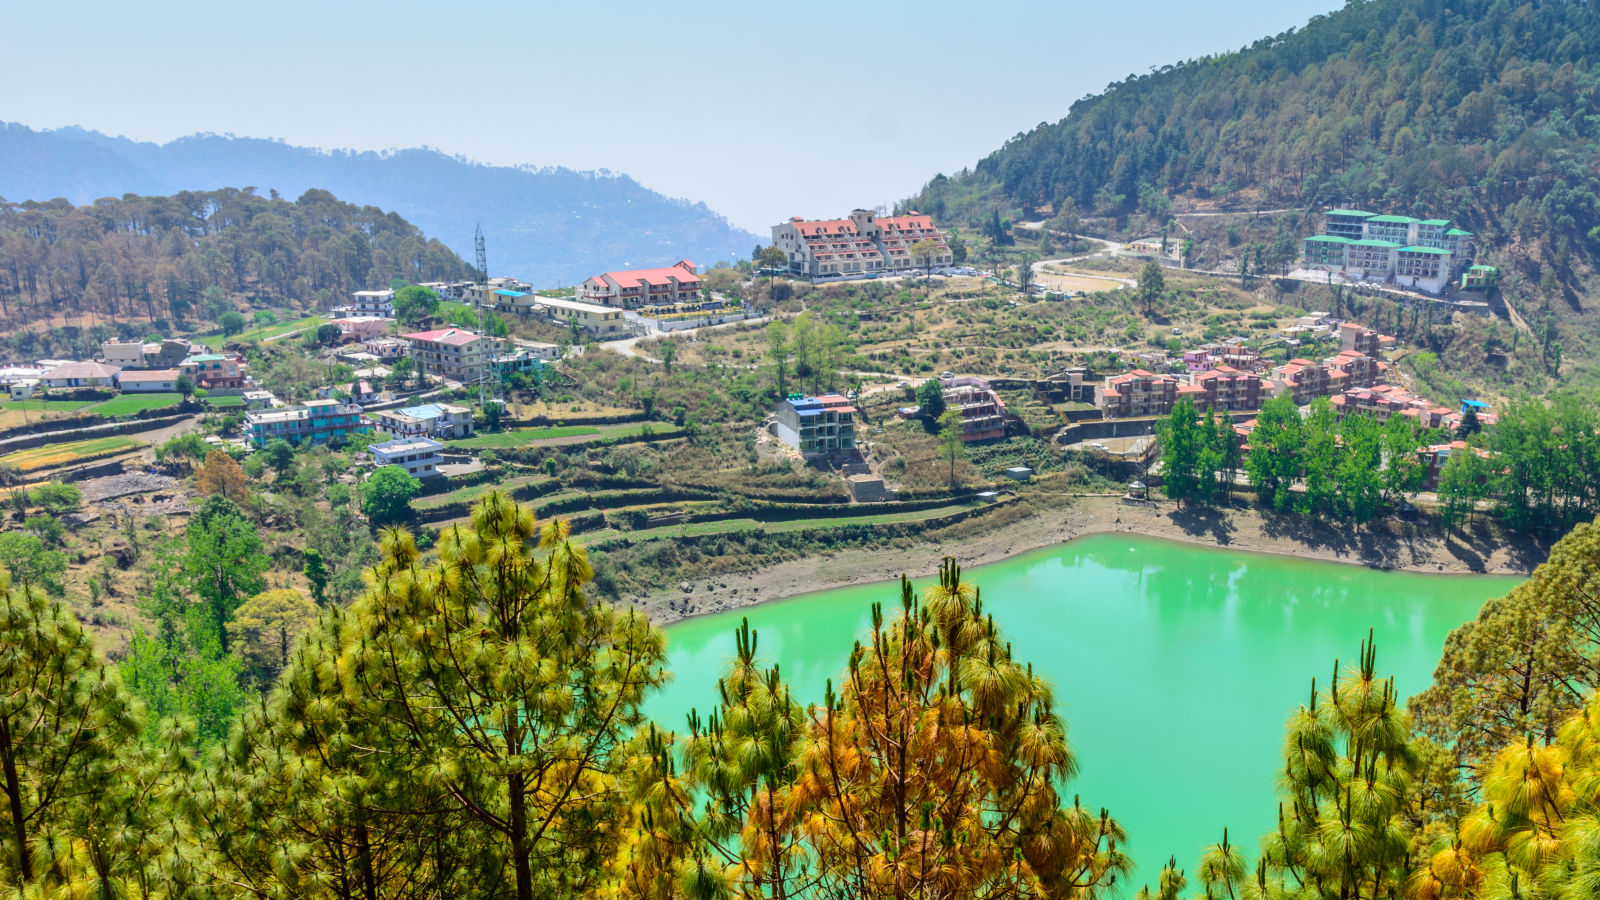
[[[6,0],[0,120],[626,171],[766,232],[893,202],[1109,82],[1336,0]]]

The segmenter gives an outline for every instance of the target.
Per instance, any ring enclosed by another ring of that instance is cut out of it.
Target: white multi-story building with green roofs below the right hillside
[[[1472,232],[1450,219],[1328,210],[1322,234],[1301,242],[1304,266],[1354,280],[1442,293],[1472,261]]]

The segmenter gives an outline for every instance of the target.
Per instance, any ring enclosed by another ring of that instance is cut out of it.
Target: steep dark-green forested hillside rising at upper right
[[[1570,282],[1600,250],[1597,155],[1600,6],[1370,0],[1110,85],[910,205],[976,221],[1349,203],[1469,223]]]

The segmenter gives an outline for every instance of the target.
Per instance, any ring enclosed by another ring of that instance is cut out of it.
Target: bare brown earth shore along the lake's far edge
[[[894,581],[902,573],[914,578],[931,575],[944,556],[955,557],[963,567],[984,565],[1099,533],[1430,575],[1526,575],[1544,562],[1549,551],[1549,544],[1541,541],[1507,540],[1488,527],[1470,530],[1467,538],[1453,535],[1445,540],[1437,528],[1395,520],[1352,532],[1254,508],[1178,511],[1165,500],[1128,504],[1112,496],[1085,496],[1070,506],[1040,509],[960,540],[938,540],[934,535],[910,548],[821,552],[750,572],[683,581],[656,591],[640,604],[640,610],[656,625],[670,625],[813,591]]]

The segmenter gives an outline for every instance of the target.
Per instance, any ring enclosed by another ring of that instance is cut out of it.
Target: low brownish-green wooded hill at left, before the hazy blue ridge
[[[354,290],[464,279],[469,267],[397,213],[307,191],[125,194],[74,207],[0,202],[0,323],[211,320],[245,301],[326,309]]]

